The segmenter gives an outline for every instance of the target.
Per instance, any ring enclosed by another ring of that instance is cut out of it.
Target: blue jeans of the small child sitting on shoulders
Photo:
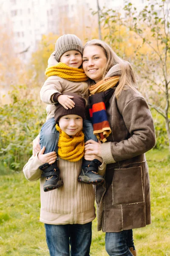
[[[47,122],[45,122],[44,125],[42,125],[41,131],[40,131],[40,146],[41,148],[45,146],[45,152],[49,153],[52,151],[56,151],[57,153],[57,144],[59,140],[59,132],[56,130],[55,127],[55,120],[54,117],[51,119],[48,119]],[[93,134],[93,125],[92,123],[85,119],[83,121],[83,132],[85,134],[85,142],[87,140],[95,140],[97,142],[96,136]],[[86,161],[83,158],[83,167],[87,167],[90,161]]]

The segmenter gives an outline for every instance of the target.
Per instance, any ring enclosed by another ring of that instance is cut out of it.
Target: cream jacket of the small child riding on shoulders
[[[47,105],[47,120],[54,117],[55,93],[77,93],[80,96],[88,97],[88,82],[72,82],[59,76],[50,76],[40,90],[40,98]]]

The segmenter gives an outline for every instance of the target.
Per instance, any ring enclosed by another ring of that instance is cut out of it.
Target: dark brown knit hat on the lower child
[[[81,96],[77,95],[76,93],[65,93],[65,95],[74,96],[72,99],[75,103],[74,108],[65,109],[61,104],[56,104],[56,109],[54,111],[54,119],[55,122],[58,123],[60,117],[65,115],[78,115],[81,116],[82,119],[85,118],[85,99]]]

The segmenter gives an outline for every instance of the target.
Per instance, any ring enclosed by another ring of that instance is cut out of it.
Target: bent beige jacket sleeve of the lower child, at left
[[[27,180],[34,181],[40,179],[42,175],[42,170],[39,169],[39,166],[42,165],[42,162],[38,159],[38,153],[32,156],[26,165],[23,167],[23,173]]]

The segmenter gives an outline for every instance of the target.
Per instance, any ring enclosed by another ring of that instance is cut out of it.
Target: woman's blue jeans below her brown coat
[[[135,247],[134,247],[134,244],[133,246],[131,246],[132,244],[130,246],[129,244],[127,244],[128,236],[130,239],[130,233],[131,233],[129,231],[130,230],[122,230],[120,232],[106,233],[105,247],[108,255],[132,256],[132,253],[130,252],[129,247],[133,247],[133,250],[135,250]]]

